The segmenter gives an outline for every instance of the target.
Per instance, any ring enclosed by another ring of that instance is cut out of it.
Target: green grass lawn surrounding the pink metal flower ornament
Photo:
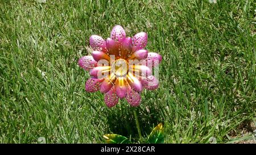
[[[106,133],[139,139],[164,123],[166,143],[254,139],[256,2],[0,2],[0,143],[105,143]],[[141,106],[108,108],[87,93],[90,35],[148,33],[160,53],[160,85]],[[248,132],[245,134],[245,132]]]

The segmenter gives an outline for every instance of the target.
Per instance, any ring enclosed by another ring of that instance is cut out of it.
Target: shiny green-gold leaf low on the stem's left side
[[[128,144],[131,143],[129,139],[125,136],[117,135],[117,134],[106,134],[103,136],[108,144]]]

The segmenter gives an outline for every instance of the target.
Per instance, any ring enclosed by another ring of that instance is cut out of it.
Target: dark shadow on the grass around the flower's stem
[[[108,129],[106,129],[106,132],[115,133],[127,138],[131,137],[132,141],[138,141],[139,134],[134,116],[135,111],[138,116],[142,136],[146,138],[152,131],[152,128],[160,122],[164,123],[163,118],[159,115],[159,108],[154,104],[131,107],[126,101],[122,100],[114,109],[110,108],[108,110]]]

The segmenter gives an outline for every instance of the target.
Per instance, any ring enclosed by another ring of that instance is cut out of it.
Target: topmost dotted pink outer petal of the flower
[[[115,43],[121,44],[126,37],[125,30],[123,30],[121,26],[117,25],[112,29],[110,37],[115,41]]]

